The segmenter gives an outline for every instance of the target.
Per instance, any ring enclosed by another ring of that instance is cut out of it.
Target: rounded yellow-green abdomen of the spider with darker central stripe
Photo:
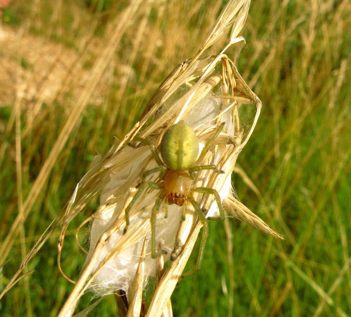
[[[161,141],[164,164],[175,171],[185,171],[194,165],[199,154],[199,141],[194,130],[184,122],[172,125]]]

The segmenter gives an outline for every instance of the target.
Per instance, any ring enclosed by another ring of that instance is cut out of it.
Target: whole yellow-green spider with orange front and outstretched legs
[[[208,235],[208,224],[203,211],[194,199],[192,193],[197,192],[212,194],[218,205],[221,220],[224,220],[224,210],[221,205],[219,194],[215,189],[208,187],[194,187],[192,185],[192,180],[196,178],[196,172],[201,170],[212,170],[215,173],[224,173],[224,171],[218,170],[215,165],[198,165],[204,158],[208,148],[212,145],[213,141],[223,129],[223,125],[224,124],[221,124],[217,128],[211,139],[206,143],[200,155],[199,141],[194,130],[183,121],[172,125],[166,130],[161,140],[160,153],[163,161],[160,159],[155,146],[150,141],[139,137],[134,138],[135,140],[150,146],[152,155],[159,166],[144,172],[141,178],[141,183],[136,186],[137,192],[125,210],[126,226],[124,228],[124,233],[126,233],[130,223],[129,213],[131,211],[131,208],[140,194],[144,191],[144,189],[150,188],[159,190],[159,196],[157,197],[151,211],[152,258],[156,258],[161,253],[167,253],[165,250],[156,252],[155,247],[156,214],[160,208],[162,201],[164,200],[165,205],[165,218],[167,218],[168,215],[168,205],[177,204],[178,206],[183,206],[183,220],[185,219],[185,203],[188,201],[197,212],[201,224],[204,228],[200,246],[200,259],[198,259],[197,269],[195,270],[199,269],[199,266],[201,265],[202,252],[205,247]],[[156,172],[160,173],[160,182],[156,183],[153,181],[145,180],[146,177]]]

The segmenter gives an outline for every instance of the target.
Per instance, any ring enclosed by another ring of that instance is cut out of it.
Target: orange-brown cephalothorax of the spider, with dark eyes
[[[188,172],[168,170],[165,178],[168,204],[183,206],[186,194],[190,191],[191,177]]]

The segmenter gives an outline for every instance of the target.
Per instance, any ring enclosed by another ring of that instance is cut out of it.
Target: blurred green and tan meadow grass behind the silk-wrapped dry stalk
[[[69,115],[78,107],[81,82],[91,75],[111,37],[109,23],[126,5],[109,1],[99,13],[80,2],[15,1],[7,9],[7,16],[13,17],[10,21],[16,23],[3,20],[2,27],[18,34],[23,31],[22,38],[32,37],[31,46],[18,41],[19,49],[12,49],[12,44],[6,51],[3,43],[0,58],[17,61],[27,76],[20,78],[36,90],[31,98],[17,101],[13,97],[2,102],[0,97],[0,245],[6,255],[0,262],[10,258],[3,268],[0,291],[64,209],[91,156],[106,153],[114,136],[124,136],[160,82],[197,52],[224,6],[215,2],[168,1],[139,8],[93,97],[67,131],[65,146],[38,183]],[[228,316],[230,312],[232,316],[350,316],[350,15],[348,1],[295,0],[285,5],[252,1],[241,32],[247,44],[239,55],[238,69],[263,108],[237,165],[260,196],[236,174],[234,187],[240,201],[285,240],[235,219],[229,221],[230,238],[223,223],[211,222],[201,270],[184,279],[173,293],[174,316]],[[44,45],[52,45],[46,54],[61,47],[71,59],[55,57],[51,64],[43,63],[31,54]],[[221,45],[211,52],[218,53]],[[62,63],[67,70],[60,73],[64,80],[52,98],[43,100],[42,88],[52,84],[49,74]],[[69,77],[69,69],[77,63],[82,67]],[[19,76],[13,67],[7,72]],[[46,75],[40,77],[41,72]],[[22,86],[17,86],[20,81],[12,83],[7,89],[15,96]],[[38,191],[31,191],[33,185]],[[5,245],[23,202],[30,203],[24,205],[28,215]],[[76,225],[97,204],[92,202]],[[75,244],[73,225],[69,229],[62,267],[76,278],[85,258]],[[28,263],[26,270],[35,270],[33,275],[1,300],[1,316],[57,315],[72,289],[57,269],[58,234],[55,230]],[[231,252],[228,243],[232,243]],[[195,262],[196,254],[188,268]],[[85,308],[90,298],[85,295],[79,308]],[[94,312],[113,316],[114,298],[104,299]]]

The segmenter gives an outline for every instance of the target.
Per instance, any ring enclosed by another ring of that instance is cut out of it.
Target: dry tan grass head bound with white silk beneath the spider
[[[170,215],[167,221],[163,219],[163,212],[159,212],[157,224],[162,223],[164,230],[161,231],[158,226],[157,230],[160,232],[157,232],[157,243],[162,245],[162,249],[168,250],[165,260],[170,258],[172,250],[175,258],[165,272],[164,259],[152,259],[149,253],[149,214],[158,191],[146,190],[141,195],[139,202],[133,205],[130,211],[131,225],[126,234],[122,234],[125,226],[125,209],[134,197],[142,173],[157,166],[148,146],[142,144],[131,146],[137,134],[139,137],[148,138],[155,147],[158,147],[166,128],[184,120],[194,129],[200,144],[204,145],[212,137],[218,125],[225,122],[224,130],[216,138],[216,146],[208,149],[200,164],[208,165],[216,162],[218,169],[225,173],[200,171],[197,174],[195,186],[217,190],[224,205],[233,216],[274,235],[274,231],[235,200],[231,194],[231,173],[238,154],[249,140],[256,125],[261,102],[241,78],[234,64],[235,59],[231,61],[224,51],[219,55],[201,55],[225,33],[228,27],[233,27],[233,31],[227,47],[236,43],[236,55],[239,53],[244,39],[237,38],[237,35],[244,25],[249,4],[250,1],[230,1],[227,4],[197,55],[177,66],[153,95],[140,121],[124,139],[111,148],[106,156],[99,158],[77,185],[66,210],[61,230],[59,263],[68,224],[100,191],[101,205],[84,222],[85,224],[88,220],[93,220],[90,251],[85,268],[59,316],[72,315],[80,296],[88,289],[95,290],[101,296],[121,288],[128,296],[127,316],[137,316],[143,306],[144,283],[148,276],[156,274],[158,274],[157,286],[146,316],[162,314],[172,316],[170,297],[183,273],[202,225],[190,206],[187,206],[184,221],[180,221],[181,212],[177,208],[172,212],[172,207],[169,207]],[[221,71],[216,70],[219,64],[222,66]],[[186,89],[183,95],[174,100],[175,93],[184,92]],[[214,96],[215,89],[220,91],[217,93],[220,94],[219,97]],[[246,105],[255,113],[252,122],[249,123],[241,117],[241,113],[245,113]],[[157,175],[151,176],[150,179],[158,181]],[[212,195],[194,192],[193,196],[199,202],[201,209],[207,212],[208,217],[216,216],[218,208],[216,204],[212,204],[213,197],[210,197]],[[175,223],[180,223],[178,230],[174,228]],[[166,236],[169,231],[172,232]],[[281,238],[276,233],[274,236]],[[174,244],[176,247],[173,248]],[[130,253],[124,252],[130,252],[128,250],[131,249],[133,249],[132,260],[121,266],[120,261],[123,262],[124,258],[130,256]],[[125,278],[125,273],[121,273],[120,270],[125,270],[128,265],[130,265],[128,270],[132,273]],[[120,273],[120,280],[114,282],[112,279],[115,278],[116,273],[117,277]],[[143,312],[142,315],[145,313]]]

